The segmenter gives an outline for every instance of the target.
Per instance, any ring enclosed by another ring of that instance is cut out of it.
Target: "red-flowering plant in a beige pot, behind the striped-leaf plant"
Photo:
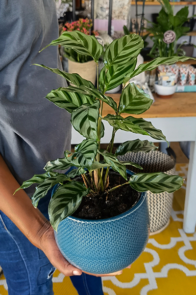
[[[97,36],[97,31],[91,31],[93,26],[91,19],[80,18],[72,23],[65,23],[62,31],[81,31],[86,35]],[[82,55],[75,52],[72,48],[64,48],[64,57],[68,59],[69,73],[77,73],[82,78],[90,80],[93,84],[96,82],[97,66],[94,59],[89,55]]]

